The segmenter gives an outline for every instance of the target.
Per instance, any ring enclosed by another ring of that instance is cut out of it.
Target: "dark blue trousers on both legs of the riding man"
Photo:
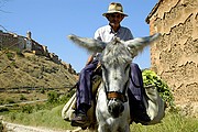
[[[98,65],[98,61],[92,62],[87,65],[81,72],[79,76],[79,81],[77,85],[77,109],[79,105],[86,105],[91,107],[92,100],[92,90],[91,90],[91,77],[94,76],[94,70]],[[138,64],[131,64],[131,78],[130,86],[128,90],[129,101],[142,100],[142,73],[139,68]],[[133,102],[132,102],[133,103]],[[130,103],[131,105],[131,103]]]

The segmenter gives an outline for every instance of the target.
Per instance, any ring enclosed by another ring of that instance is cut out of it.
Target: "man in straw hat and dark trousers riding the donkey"
[[[121,21],[128,16],[123,13],[123,8],[120,3],[112,2],[109,6],[108,12],[102,14],[109,21],[109,25],[99,28],[95,33],[95,38],[102,42],[110,42],[113,37],[120,37],[123,41],[133,38],[131,31],[128,28],[121,26]],[[98,66],[99,53],[91,55],[88,58],[86,67],[80,72],[79,81],[77,85],[77,110],[76,117],[72,120],[73,127],[85,127],[89,123],[87,111],[91,107],[91,77]],[[135,122],[147,122],[150,118],[146,114],[143,101],[143,80],[142,73],[139,66],[131,64],[131,82],[129,87],[129,102],[131,118]],[[135,108],[135,109],[134,109]]]

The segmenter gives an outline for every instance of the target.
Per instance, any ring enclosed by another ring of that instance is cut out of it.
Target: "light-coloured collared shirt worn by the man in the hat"
[[[99,28],[95,32],[95,38],[102,42],[111,42],[114,37],[120,37],[122,41],[133,40],[133,35],[128,28],[120,26],[118,32],[114,32],[110,25]]]

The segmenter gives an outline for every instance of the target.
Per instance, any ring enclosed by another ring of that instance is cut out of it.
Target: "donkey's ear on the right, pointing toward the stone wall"
[[[134,40],[127,41],[124,42],[124,44],[129,47],[132,56],[134,57],[138,55],[138,53],[142,52],[144,47],[152,44],[152,42],[157,40],[160,36],[161,36],[161,33],[156,33],[151,36],[136,37]]]

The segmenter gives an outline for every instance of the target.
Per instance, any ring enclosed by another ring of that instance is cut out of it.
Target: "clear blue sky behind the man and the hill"
[[[31,31],[34,41],[46,45],[51,53],[80,72],[89,54],[69,42],[67,35],[94,37],[98,28],[108,24],[101,14],[107,12],[110,2],[112,0],[0,0],[0,25],[24,36],[26,31]],[[122,3],[129,16],[121,24],[129,28],[134,37],[150,35],[145,18],[158,0],[113,2]],[[133,62],[141,68],[148,68],[150,47]]]

